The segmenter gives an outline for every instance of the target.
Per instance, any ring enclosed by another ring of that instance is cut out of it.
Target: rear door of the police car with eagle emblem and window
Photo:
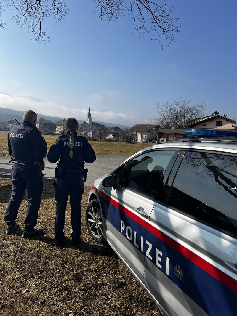
[[[236,156],[176,160],[145,236],[144,283],[168,315],[236,315],[236,187]]]

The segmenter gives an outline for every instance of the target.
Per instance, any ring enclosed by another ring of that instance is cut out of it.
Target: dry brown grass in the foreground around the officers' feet
[[[52,180],[43,182],[37,227],[45,235],[23,239],[27,197],[19,210],[16,234],[6,235],[3,217],[11,179],[0,174],[0,316],[163,315],[111,248],[90,238],[84,220],[88,189],[82,199],[82,242],[70,244],[68,205],[66,244],[55,246]]]

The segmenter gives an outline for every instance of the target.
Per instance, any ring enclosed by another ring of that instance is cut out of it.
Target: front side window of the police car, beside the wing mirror
[[[119,184],[131,190],[155,197],[168,163],[175,150],[146,152],[126,163]]]

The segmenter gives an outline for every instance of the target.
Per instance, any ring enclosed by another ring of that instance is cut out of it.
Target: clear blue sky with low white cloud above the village
[[[237,119],[237,2],[179,0],[178,43],[138,37],[133,21],[96,19],[94,2],[65,0],[65,21],[45,22],[49,44],[33,43],[5,11],[0,31],[0,107],[113,125],[150,124],[157,103],[205,101],[206,114]],[[32,98],[33,97],[33,98]]]

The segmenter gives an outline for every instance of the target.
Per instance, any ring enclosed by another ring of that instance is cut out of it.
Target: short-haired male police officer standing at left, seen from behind
[[[23,122],[10,129],[8,133],[8,151],[12,155],[12,193],[5,212],[8,225],[6,234],[13,234],[17,225],[15,220],[27,189],[28,204],[25,228],[22,237],[42,235],[43,229],[35,229],[43,190],[43,158],[47,153],[47,143],[36,127],[37,114],[27,111]]]

